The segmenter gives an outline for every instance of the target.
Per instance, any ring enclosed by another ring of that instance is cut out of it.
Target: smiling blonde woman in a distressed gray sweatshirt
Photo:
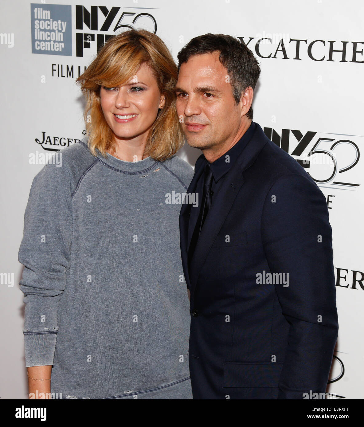
[[[163,41],[130,30],[77,79],[87,137],[35,176],[19,249],[30,398],[192,398],[176,77]]]

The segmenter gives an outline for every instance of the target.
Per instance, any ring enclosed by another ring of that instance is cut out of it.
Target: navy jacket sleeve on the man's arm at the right
[[[291,174],[274,182],[262,210],[262,242],[289,323],[279,399],[324,393],[338,336],[332,231],[326,199],[309,177]],[[287,286],[288,284],[288,286]],[[278,362],[278,360],[277,360]]]

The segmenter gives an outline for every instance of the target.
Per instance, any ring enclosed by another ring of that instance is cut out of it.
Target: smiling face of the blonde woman
[[[127,84],[116,88],[100,88],[101,108],[115,140],[145,143],[158,108],[165,97],[160,94],[151,68],[143,63]]]

